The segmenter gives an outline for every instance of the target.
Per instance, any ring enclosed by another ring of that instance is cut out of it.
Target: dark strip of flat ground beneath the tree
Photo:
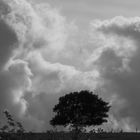
[[[71,133],[0,133],[0,140],[72,140]],[[80,134],[78,140],[140,140],[140,133]]]

